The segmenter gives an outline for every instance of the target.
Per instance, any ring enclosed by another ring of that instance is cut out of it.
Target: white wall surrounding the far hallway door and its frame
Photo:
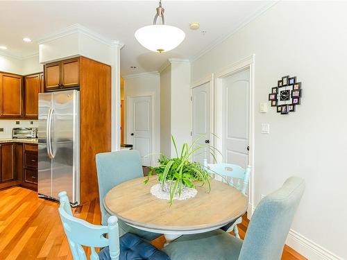
[[[146,73],[144,75],[124,77],[124,141],[131,144],[128,132],[128,97],[149,96],[153,94],[154,108],[154,149],[152,153],[160,153],[160,74]],[[158,161],[158,155],[154,156],[154,162]]]

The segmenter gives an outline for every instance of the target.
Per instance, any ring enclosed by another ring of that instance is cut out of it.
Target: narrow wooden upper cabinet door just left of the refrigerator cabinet
[[[24,77],[24,116],[26,117],[37,117],[40,80],[40,74]]]

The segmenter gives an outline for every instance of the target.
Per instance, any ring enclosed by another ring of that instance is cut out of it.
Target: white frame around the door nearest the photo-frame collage
[[[228,67],[225,67],[224,69],[221,69],[218,73],[215,75],[215,87],[214,87],[214,132],[217,135],[217,137],[214,137],[214,144],[215,147],[218,150],[222,149],[222,139],[223,136],[223,104],[221,101],[222,95],[223,95],[223,78],[227,78],[229,76],[232,76],[233,74],[242,71],[244,69],[249,69],[249,130],[248,130],[248,136],[249,136],[249,154],[248,154],[248,162],[249,165],[252,166],[252,172],[248,187],[248,218],[251,218],[253,211],[254,211],[254,67],[255,67],[255,54],[248,56],[247,58],[244,58],[243,60],[239,60],[239,62],[236,62],[234,64],[231,64]],[[223,157],[221,155],[217,155],[217,159],[221,160]]]

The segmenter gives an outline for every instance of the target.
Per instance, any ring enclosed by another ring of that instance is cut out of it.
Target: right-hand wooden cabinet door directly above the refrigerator
[[[79,58],[62,61],[62,87],[78,87],[79,85]]]

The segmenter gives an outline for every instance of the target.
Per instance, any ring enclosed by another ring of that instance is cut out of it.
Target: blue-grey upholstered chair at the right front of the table
[[[171,260],[279,260],[304,190],[303,179],[290,177],[280,189],[263,198],[244,241],[217,229],[181,236],[163,250]]]

